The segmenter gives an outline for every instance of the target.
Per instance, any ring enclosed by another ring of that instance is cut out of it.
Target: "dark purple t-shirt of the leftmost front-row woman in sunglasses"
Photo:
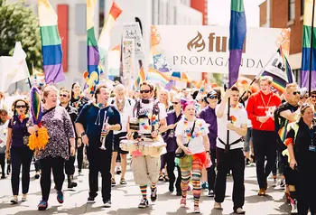
[[[23,122],[16,116],[10,119],[9,128],[12,128],[12,140],[11,146],[12,147],[22,147],[23,146],[23,136],[30,136],[27,131],[27,124],[29,118],[26,117],[23,119]]]

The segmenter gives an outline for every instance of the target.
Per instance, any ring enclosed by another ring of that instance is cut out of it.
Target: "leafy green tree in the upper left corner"
[[[22,2],[7,4],[0,0],[0,56],[14,52],[15,42],[21,42],[26,52],[27,66],[42,69],[42,43],[36,14]]]

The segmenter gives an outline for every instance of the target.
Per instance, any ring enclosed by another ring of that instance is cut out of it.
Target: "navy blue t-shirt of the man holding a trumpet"
[[[100,136],[101,129],[103,126],[104,115],[107,113],[108,125],[119,124],[121,127],[121,117],[117,109],[113,106],[108,106],[107,108],[98,108],[92,104],[87,104],[82,108],[76,123],[81,124],[85,127],[86,134],[88,136],[88,146],[89,147],[100,147]],[[111,147],[113,145],[113,131],[107,134],[106,147]]]

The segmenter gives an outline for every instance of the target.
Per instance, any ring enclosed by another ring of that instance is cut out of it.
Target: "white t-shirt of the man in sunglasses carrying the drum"
[[[159,124],[159,120],[167,117],[166,108],[162,103],[158,103],[159,116],[155,120],[153,119],[153,103],[155,100],[150,101],[148,104],[141,103],[141,108],[139,109],[139,116],[147,115],[152,118],[153,126]],[[137,108],[135,109],[135,117],[137,116]],[[139,134],[152,134],[152,125],[150,124],[148,118],[139,119]]]

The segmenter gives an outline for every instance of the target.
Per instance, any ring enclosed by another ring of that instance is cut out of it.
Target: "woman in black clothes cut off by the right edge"
[[[284,144],[290,156],[290,167],[295,175],[298,213],[316,214],[316,125],[313,120],[314,107],[304,104],[301,119],[290,124]]]

